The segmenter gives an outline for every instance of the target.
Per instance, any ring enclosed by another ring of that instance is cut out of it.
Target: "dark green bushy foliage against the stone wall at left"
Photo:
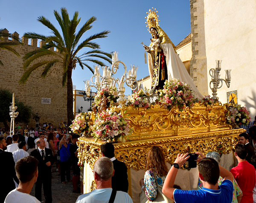
[[[9,107],[12,102],[12,93],[9,90],[0,89],[0,122],[11,121],[9,115]],[[31,107],[27,106],[21,101],[15,99],[15,106],[17,106],[17,112],[19,115],[15,118],[15,122],[19,123],[29,123],[30,118],[32,117]]]

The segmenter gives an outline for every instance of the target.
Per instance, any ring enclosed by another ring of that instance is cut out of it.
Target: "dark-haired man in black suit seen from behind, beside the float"
[[[102,144],[100,147],[102,156],[110,158],[114,166],[114,176],[112,177],[112,188],[117,191],[128,192],[127,167],[122,161],[115,158],[115,148],[112,143]]]

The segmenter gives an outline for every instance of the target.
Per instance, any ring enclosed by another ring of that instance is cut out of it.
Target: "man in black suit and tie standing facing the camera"
[[[52,203],[52,164],[54,158],[52,150],[47,149],[44,139],[40,138],[36,145],[37,149],[31,152],[31,156],[38,160],[38,179],[35,183],[35,197],[42,201],[42,184],[44,189],[45,203]]]

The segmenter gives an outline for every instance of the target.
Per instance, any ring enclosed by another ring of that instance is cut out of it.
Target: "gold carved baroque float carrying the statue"
[[[232,129],[226,123],[225,108],[221,103],[214,106],[195,104],[180,112],[171,111],[156,104],[151,109],[123,107],[119,109],[131,122],[134,133],[125,143],[115,143],[116,158],[124,161],[128,168],[145,168],[145,158],[149,146],[160,146],[166,161],[172,164],[179,152],[218,151],[230,153],[237,143],[237,136],[243,129]],[[91,168],[100,157],[103,141],[94,142],[93,138],[79,138],[79,164],[87,162]]]

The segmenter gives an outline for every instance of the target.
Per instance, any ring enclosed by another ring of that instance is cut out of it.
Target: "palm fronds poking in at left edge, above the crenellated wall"
[[[20,56],[20,54],[13,48],[13,46],[20,44],[20,39],[10,34],[8,31],[7,32],[5,31],[7,30],[0,29],[0,49],[11,51],[13,54]],[[7,37],[12,37],[15,40],[14,41],[3,40],[4,38],[7,38]],[[0,60],[0,65],[3,65],[3,62],[1,62],[1,60]]]

